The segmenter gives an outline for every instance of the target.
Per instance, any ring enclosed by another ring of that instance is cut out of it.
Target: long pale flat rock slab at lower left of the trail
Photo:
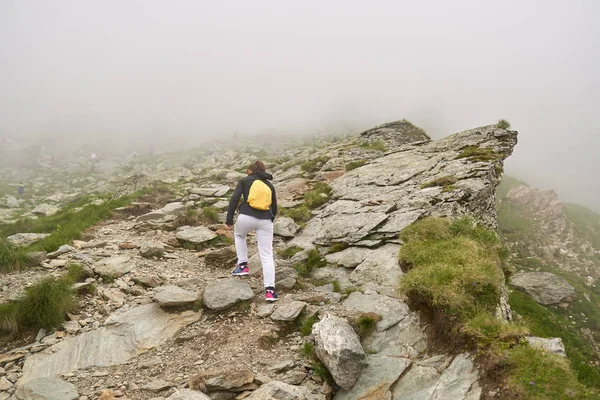
[[[27,358],[19,382],[90,366],[123,364],[164,343],[199,317],[200,314],[192,311],[170,314],[158,304],[115,313],[107,318],[104,327],[64,340]]]

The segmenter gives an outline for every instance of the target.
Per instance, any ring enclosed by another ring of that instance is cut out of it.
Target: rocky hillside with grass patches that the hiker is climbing
[[[269,143],[29,171],[0,225],[0,400],[594,398],[508,307],[505,121]],[[231,276],[222,225],[257,158],[281,209],[275,305],[254,237]]]

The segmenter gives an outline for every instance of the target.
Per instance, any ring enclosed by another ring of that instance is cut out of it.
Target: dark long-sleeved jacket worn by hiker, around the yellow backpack
[[[252,182],[257,179],[262,180],[267,184],[269,189],[271,189],[271,208],[269,210],[257,210],[250,207],[248,204],[248,192],[250,192],[250,186],[252,186]],[[269,182],[271,179],[273,179],[273,175],[262,171],[256,171],[252,175],[240,179],[231,196],[231,200],[229,201],[229,209],[227,210],[227,220],[225,223],[227,225],[233,225],[233,214],[235,214],[235,210],[242,196],[244,196],[244,199],[240,206],[240,214],[250,215],[258,219],[270,219],[273,221],[277,215],[277,196],[275,195],[275,188],[271,182]]]

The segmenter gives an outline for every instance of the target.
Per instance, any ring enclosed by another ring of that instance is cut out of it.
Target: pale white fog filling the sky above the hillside
[[[600,2],[0,0],[0,138],[433,137],[509,120],[507,173],[600,210]]]

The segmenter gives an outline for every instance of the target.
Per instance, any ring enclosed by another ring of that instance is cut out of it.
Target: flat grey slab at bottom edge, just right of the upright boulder
[[[352,389],[341,389],[335,400],[391,399],[391,386],[411,365],[406,358],[387,357],[379,354],[367,357],[368,366],[364,369]]]

